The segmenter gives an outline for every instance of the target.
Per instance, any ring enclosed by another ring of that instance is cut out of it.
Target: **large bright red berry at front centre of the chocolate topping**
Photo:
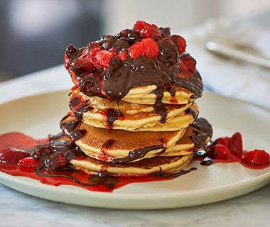
[[[129,48],[129,57],[136,59],[137,57],[144,55],[149,58],[158,57],[159,48],[156,42],[152,38],[142,39],[140,42],[134,43]]]

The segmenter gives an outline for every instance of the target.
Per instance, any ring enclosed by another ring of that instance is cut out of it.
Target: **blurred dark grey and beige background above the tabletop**
[[[63,64],[68,44],[82,47],[137,20],[176,33],[266,10],[269,0],[0,0],[0,82]]]

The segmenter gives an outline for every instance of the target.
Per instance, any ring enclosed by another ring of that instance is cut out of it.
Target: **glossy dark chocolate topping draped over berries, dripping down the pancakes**
[[[202,95],[203,86],[200,74],[195,70],[196,62],[193,58],[191,64],[194,67],[188,67],[188,70],[181,67],[185,58],[190,55],[179,52],[179,35],[171,35],[170,28],[159,28],[159,33],[160,35],[151,36],[159,50],[156,57],[146,57],[144,54],[139,57],[131,56],[131,46],[146,39],[145,34],[140,33],[134,26],[133,29],[126,29],[117,35],[104,35],[101,40],[90,42],[85,48],[76,49],[73,45],[68,45],[65,67],[81,92],[87,96],[101,96],[117,103],[132,88],[156,85],[157,90],[153,93],[159,93],[155,109],[162,117],[161,123],[165,123],[166,109],[161,104],[161,87],[183,87],[193,92],[193,98],[198,98]],[[106,56],[102,58],[100,53],[105,52]],[[169,92],[175,96],[172,88]]]

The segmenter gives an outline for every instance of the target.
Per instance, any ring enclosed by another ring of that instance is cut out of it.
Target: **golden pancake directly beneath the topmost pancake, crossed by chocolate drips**
[[[167,116],[166,123],[161,123],[162,117],[156,114],[154,105],[131,104],[126,101],[119,101],[119,105],[117,105],[116,101],[109,101],[98,96],[86,96],[76,88],[71,89],[70,94],[70,109],[78,120],[97,128],[111,127],[127,131],[175,131],[193,123],[195,116],[198,115],[197,104],[163,104]],[[188,108],[195,113],[184,112]],[[119,110],[124,117],[119,116],[109,122],[108,113],[117,114]]]

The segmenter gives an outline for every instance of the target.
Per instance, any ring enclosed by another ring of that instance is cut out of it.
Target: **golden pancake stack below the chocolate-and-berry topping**
[[[142,90],[147,88],[140,92]],[[61,121],[61,126],[87,156],[84,160],[71,160],[70,163],[77,170],[91,174],[148,175],[182,169],[190,163],[193,155],[195,144],[190,135],[196,135],[193,122],[198,116],[198,106],[190,101],[192,94],[188,93],[185,93],[188,96],[185,104],[163,104],[168,116],[166,123],[161,123],[161,116],[156,114],[153,104],[138,104],[140,99],[136,99],[136,103],[120,101],[117,105],[116,101],[89,97],[77,87],[72,88],[72,112]],[[132,98],[128,96],[126,99],[130,101]],[[184,102],[180,93],[175,94],[175,99]],[[144,99],[141,100],[145,103]],[[124,116],[113,121],[111,127],[106,115],[109,110],[115,113],[120,110]],[[69,123],[76,123],[76,129],[70,130]],[[70,133],[73,131],[85,133],[76,139],[74,133]],[[205,143],[209,140],[210,136],[207,136]]]

